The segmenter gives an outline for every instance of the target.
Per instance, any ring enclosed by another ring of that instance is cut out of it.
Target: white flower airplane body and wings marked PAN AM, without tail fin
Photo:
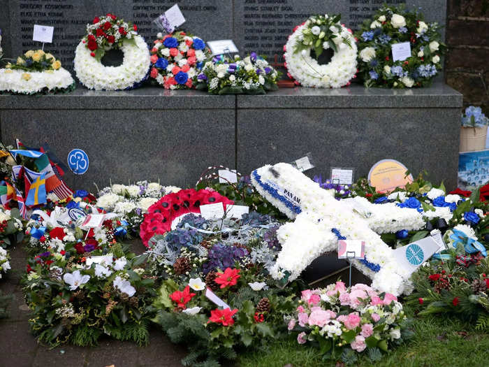
[[[285,163],[256,169],[251,173],[251,182],[270,203],[295,219],[277,231],[282,251],[272,270],[274,278],[297,278],[316,257],[336,250],[338,239],[346,238],[365,241],[365,260],[351,261],[372,278],[372,287],[396,295],[404,291],[409,272],[397,266],[393,249],[374,230],[420,229],[424,222],[416,210],[379,206],[366,200],[338,201]]]

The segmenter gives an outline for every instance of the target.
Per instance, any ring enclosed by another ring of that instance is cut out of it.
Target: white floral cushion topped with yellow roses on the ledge
[[[29,50],[0,69],[0,92],[37,94],[69,92],[75,89],[71,74],[61,62],[43,50]]]

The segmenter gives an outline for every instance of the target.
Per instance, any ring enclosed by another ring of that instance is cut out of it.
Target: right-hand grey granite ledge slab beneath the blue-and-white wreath
[[[238,108],[462,108],[462,94],[437,82],[415,89],[281,88],[266,96],[238,96]]]

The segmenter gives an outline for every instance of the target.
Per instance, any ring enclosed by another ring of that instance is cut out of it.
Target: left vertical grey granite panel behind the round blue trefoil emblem
[[[65,162],[75,147],[85,150],[87,173],[66,174],[75,189],[146,179],[194,186],[209,165],[235,166],[234,110],[11,109],[0,122],[6,144],[48,142]]]

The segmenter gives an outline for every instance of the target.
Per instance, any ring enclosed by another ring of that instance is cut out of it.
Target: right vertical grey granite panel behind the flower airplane
[[[415,174],[428,170],[448,189],[457,185],[460,108],[250,108],[238,109],[237,117],[243,173],[311,152],[310,177],[354,167],[358,178],[392,158]]]

